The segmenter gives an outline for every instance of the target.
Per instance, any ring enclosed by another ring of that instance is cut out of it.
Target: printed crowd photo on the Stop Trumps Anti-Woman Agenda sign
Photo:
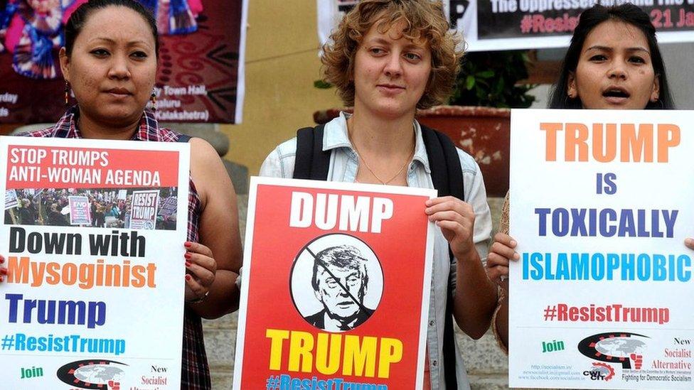
[[[5,191],[5,224],[175,230],[178,188]]]

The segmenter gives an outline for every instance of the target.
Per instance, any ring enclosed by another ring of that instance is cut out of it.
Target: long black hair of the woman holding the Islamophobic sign
[[[668,86],[668,77],[666,76],[665,63],[661,50],[658,48],[658,40],[656,39],[656,28],[651,23],[651,18],[648,13],[641,10],[638,6],[631,3],[622,4],[620,6],[601,6],[595,5],[583,11],[580,16],[578,25],[574,30],[574,35],[571,37],[571,45],[566,52],[564,62],[562,63],[559,80],[552,86],[549,99],[549,108],[555,109],[580,109],[582,102],[579,97],[570,98],[567,96],[568,80],[570,72],[576,72],[578,60],[581,55],[583,43],[588,34],[605,21],[622,21],[631,26],[638,28],[648,42],[648,50],[651,51],[651,64],[653,72],[660,83],[658,91],[658,102],[648,102],[646,109],[673,109],[672,95]]]

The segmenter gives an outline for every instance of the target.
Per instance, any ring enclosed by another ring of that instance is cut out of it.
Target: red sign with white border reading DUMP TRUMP
[[[250,188],[234,389],[422,389],[436,191]]]

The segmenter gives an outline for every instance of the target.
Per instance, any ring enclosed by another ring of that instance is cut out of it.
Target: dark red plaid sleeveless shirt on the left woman
[[[58,123],[48,129],[21,134],[33,137],[83,138],[77,128],[79,109],[68,109]],[[160,129],[154,115],[145,110],[140,125],[132,135],[132,141],[176,142],[180,134],[169,129]],[[188,195],[188,241],[198,242],[198,222],[201,202],[193,180],[189,180]],[[210,389],[210,367],[205,354],[203,326],[200,317],[186,308],[183,315],[183,357],[181,359],[181,389]]]

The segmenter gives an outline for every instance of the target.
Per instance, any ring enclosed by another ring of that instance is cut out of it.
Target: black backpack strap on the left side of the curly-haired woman
[[[297,157],[294,162],[295,179],[326,180],[331,151],[323,151],[324,126],[304,127],[297,130]]]

